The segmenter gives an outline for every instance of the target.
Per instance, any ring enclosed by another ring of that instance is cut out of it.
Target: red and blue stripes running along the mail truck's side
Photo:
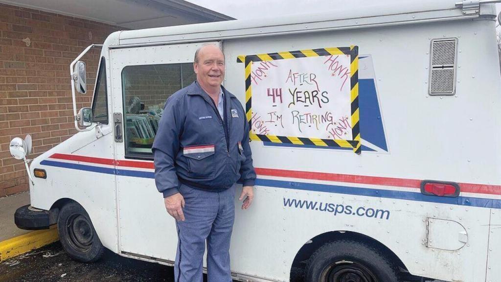
[[[53,154],[40,163],[72,170],[154,179],[153,162]],[[501,209],[501,186],[459,183],[458,197],[427,196],[421,180],[256,168],[257,186]],[[50,175],[50,173],[48,174]]]

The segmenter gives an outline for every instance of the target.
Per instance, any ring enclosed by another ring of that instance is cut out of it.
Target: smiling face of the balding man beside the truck
[[[193,63],[196,79],[202,87],[219,87],[224,77],[224,56],[214,45],[198,51],[198,62]]]

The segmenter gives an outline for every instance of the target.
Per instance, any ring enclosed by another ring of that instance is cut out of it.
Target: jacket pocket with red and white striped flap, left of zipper
[[[183,148],[183,155],[188,159],[188,176],[210,179],[215,176],[214,145],[189,146]]]

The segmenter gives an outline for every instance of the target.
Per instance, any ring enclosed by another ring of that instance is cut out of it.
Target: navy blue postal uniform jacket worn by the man
[[[222,89],[223,120],[196,81],[165,102],[152,147],[155,183],[164,197],[178,193],[181,183],[209,191],[223,191],[237,181],[254,185],[245,112],[238,99]]]

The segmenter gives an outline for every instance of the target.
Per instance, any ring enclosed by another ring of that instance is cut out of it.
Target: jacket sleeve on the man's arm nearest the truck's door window
[[[171,96],[165,102],[162,117],[151,150],[155,164],[155,184],[163,197],[178,193],[174,161],[179,152],[179,137],[182,134],[184,116],[181,114],[180,99]]]

